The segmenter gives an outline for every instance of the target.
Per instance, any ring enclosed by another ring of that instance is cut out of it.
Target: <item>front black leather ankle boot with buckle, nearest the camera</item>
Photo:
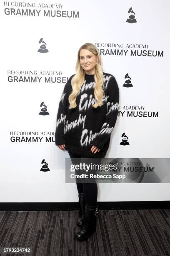
[[[75,237],[78,240],[86,240],[93,232],[95,232],[97,213],[97,205],[85,205],[85,212],[82,224],[80,226],[80,229],[75,232]]]

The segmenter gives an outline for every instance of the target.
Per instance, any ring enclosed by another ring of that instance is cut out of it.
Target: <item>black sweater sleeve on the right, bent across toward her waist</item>
[[[95,145],[102,150],[103,146],[111,136],[115,127],[119,109],[119,87],[114,76],[111,76],[106,85],[107,113],[105,120],[97,136],[92,140],[91,145]]]

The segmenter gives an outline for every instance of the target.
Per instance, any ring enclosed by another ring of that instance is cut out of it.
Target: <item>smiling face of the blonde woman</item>
[[[80,50],[80,64],[82,68],[85,70],[86,74],[94,74],[96,61],[98,60],[98,56],[95,56],[91,51],[86,49]]]

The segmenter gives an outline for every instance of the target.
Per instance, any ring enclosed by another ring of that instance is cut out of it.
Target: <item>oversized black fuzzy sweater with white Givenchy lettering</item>
[[[57,113],[55,145],[65,144],[65,149],[85,157],[105,157],[110,144],[110,135],[115,126],[119,108],[119,88],[111,74],[103,72],[104,104],[96,109],[94,74],[85,73],[85,82],[76,97],[76,108],[69,109],[68,97],[72,92],[71,79],[65,84]],[[92,145],[99,152],[90,151]]]

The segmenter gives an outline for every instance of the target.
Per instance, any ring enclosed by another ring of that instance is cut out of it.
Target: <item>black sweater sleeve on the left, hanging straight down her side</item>
[[[64,125],[65,119],[67,117],[67,109],[69,106],[69,84],[71,84],[71,79],[74,75],[72,75],[67,83],[65,84],[64,90],[60,97],[60,102],[58,106],[58,113],[57,113],[57,122],[56,122],[56,130],[55,130],[55,145],[62,145],[65,144],[64,139]]]

